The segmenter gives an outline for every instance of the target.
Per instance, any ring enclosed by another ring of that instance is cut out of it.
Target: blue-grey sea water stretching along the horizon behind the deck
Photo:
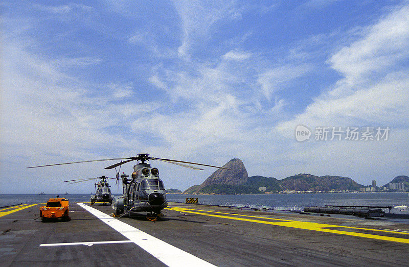
[[[118,194],[114,194],[118,195]],[[0,207],[27,204],[46,203],[49,198],[56,195],[38,194],[4,194],[0,195]],[[89,202],[90,194],[60,195],[70,202]],[[299,207],[325,206],[325,205],[362,205],[362,206],[409,206],[409,195],[407,192],[393,193],[326,193],[326,194],[291,194],[291,195],[181,195],[168,194],[167,200],[174,202],[185,202],[185,198],[198,198],[199,204],[211,205],[264,205],[272,207]],[[409,209],[408,209],[409,210]]]

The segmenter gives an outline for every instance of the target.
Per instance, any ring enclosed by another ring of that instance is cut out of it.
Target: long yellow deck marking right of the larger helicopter
[[[358,236],[358,237],[365,237],[365,238],[372,238],[372,239],[380,239],[380,240],[386,240],[386,241],[393,241],[393,242],[400,242],[400,243],[409,244],[409,239],[406,239],[406,238],[382,236],[382,235],[376,235],[376,234],[348,232],[348,231],[333,230],[333,229],[328,229],[328,228],[336,227],[336,228],[366,230],[366,231],[373,231],[373,232],[394,233],[394,234],[400,234],[400,235],[402,235],[402,234],[407,235],[408,234],[408,233],[402,233],[402,232],[397,232],[397,231],[378,230],[378,229],[369,229],[369,228],[358,228],[358,227],[330,225],[330,224],[319,224],[319,223],[310,223],[310,222],[300,222],[300,221],[282,220],[282,219],[274,219],[274,218],[267,218],[267,217],[231,214],[231,213],[224,213],[224,212],[205,211],[205,210],[197,210],[197,209],[186,209],[186,208],[178,208],[178,207],[170,207],[170,208],[172,208],[175,211],[184,212],[184,213],[193,213],[193,214],[206,215],[206,216],[212,216],[212,217],[219,217],[219,218],[223,218],[223,219],[230,219],[230,220],[236,220],[236,221],[246,221],[246,222],[252,222],[252,223],[259,223],[259,224],[284,226],[284,227],[291,227],[291,228],[298,228],[298,229],[305,229],[305,230],[312,230],[312,231],[319,231],[319,232],[326,232],[326,233],[333,233],[333,234],[351,235],[351,236]],[[213,213],[218,213],[218,214],[211,214],[211,213],[208,213],[208,212],[213,212]],[[221,214],[225,214],[225,215],[221,215]],[[232,216],[226,216],[226,215],[242,216],[242,217],[232,217]],[[272,221],[254,220],[254,219],[250,219],[251,217],[256,218],[256,219],[264,219],[264,220],[272,220]]]

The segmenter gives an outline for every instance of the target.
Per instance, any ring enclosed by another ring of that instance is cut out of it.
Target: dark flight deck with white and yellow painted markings
[[[40,204],[0,209],[1,266],[408,265],[409,224],[169,203],[156,222],[70,203],[42,223]]]

